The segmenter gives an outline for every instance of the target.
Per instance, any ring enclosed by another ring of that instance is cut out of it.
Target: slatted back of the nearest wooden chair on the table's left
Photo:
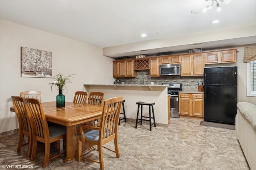
[[[50,138],[48,125],[41,102],[34,98],[24,98],[23,101],[31,123],[33,135],[42,138]]]

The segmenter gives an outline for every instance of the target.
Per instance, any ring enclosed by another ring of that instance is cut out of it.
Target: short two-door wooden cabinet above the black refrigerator
[[[236,63],[236,49],[205,53],[205,64]]]

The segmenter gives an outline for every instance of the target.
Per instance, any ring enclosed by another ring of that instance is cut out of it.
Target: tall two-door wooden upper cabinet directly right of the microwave
[[[203,76],[204,54],[182,55],[181,76]]]

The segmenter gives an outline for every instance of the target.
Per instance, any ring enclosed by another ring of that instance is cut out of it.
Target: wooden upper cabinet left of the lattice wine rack
[[[136,77],[134,60],[113,61],[113,77]]]

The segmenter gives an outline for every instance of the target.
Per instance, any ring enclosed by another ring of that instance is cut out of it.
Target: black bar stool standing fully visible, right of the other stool
[[[154,105],[155,103],[137,102],[136,104],[138,104],[138,111],[137,111],[137,119],[136,119],[136,126],[135,126],[135,128],[137,128],[138,123],[140,123],[140,125],[142,125],[142,120],[144,120],[144,121],[149,121],[149,126],[150,126],[150,131],[151,131],[151,130],[152,130],[151,127],[152,127],[153,124],[154,124],[154,126],[156,127],[156,120],[155,120],[154,107],[153,107],[153,105]],[[149,107],[149,116],[142,116],[142,106],[143,106],[143,105],[146,105],[146,106]],[[138,117],[139,117],[140,106],[141,106],[141,112],[140,112],[140,119],[139,119]],[[151,117],[151,109],[150,109],[150,106],[152,107],[153,117]],[[144,118],[149,118],[149,119],[143,119],[143,117],[144,117]],[[151,123],[151,119],[154,120],[153,123]],[[140,120],[140,121],[138,122],[138,120]]]

